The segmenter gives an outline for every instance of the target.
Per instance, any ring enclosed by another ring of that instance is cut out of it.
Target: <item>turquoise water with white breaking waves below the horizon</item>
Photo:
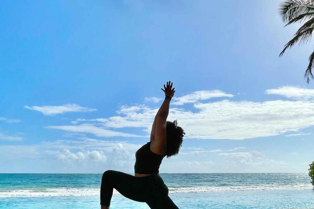
[[[134,175],[134,174],[131,174]],[[0,208],[100,208],[102,174],[0,174]],[[314,208],[303,173],[160,174],[179,208]],[[114,190],[111,208],[145,208]]]

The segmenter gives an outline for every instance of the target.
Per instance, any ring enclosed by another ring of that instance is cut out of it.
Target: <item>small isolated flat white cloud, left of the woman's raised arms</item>
[[[97,109],[92,109],[89,107],[81,107],[77,104],[65,104],[62,106],[24,106],[26,109],[36,110],[43,113],[44,115],[53,116],[56,114],[61,114],[65,112],[91,112]]]

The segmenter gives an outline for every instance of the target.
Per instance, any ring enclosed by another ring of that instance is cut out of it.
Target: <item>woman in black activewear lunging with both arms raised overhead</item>
[[[123,196],[138,202],[146,202],[152,209],[179,209],[168,196],[169,190],[159,175],[162,159],[178,154],[182,144],[181,127],[174,122],[166,121],[169,104],[174,95],[172,83],[165,86],[165,100],[158,110],[150,135],[150,142],[135,153],[135,175],[115,170],[107,170],[102,175],[100,186],[101,209],[109,209],[113,188]]]

